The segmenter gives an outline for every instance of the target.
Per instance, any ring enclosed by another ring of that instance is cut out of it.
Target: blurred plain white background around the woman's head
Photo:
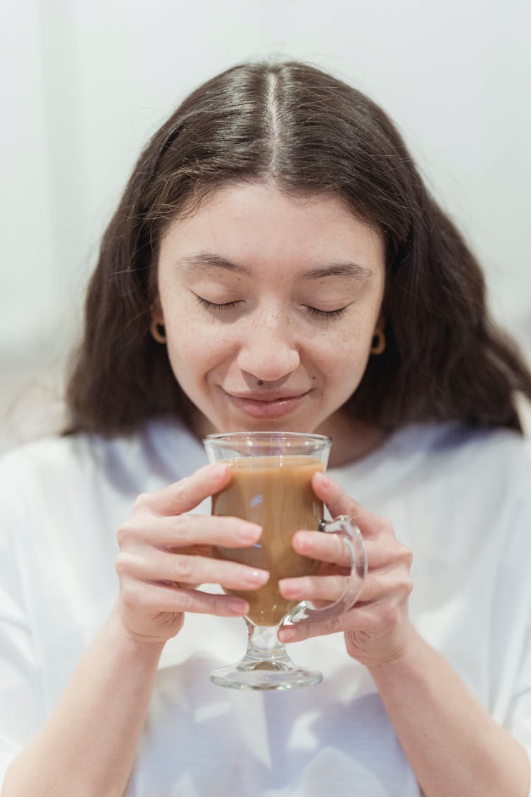
[[[528,0],[18,0],[0,27],[0,447],[57,422],[100,236],[146,139],[239,61],[309,61],[400,128],[531,352]]]

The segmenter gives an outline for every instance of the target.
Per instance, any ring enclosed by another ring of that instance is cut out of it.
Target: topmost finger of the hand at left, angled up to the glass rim
[[[191,476],[176,481],[173,485],[158,490],[157,493],[143,493],[137,498],[135,508],[146,507],[159,515],[180,515],[182,512],[189,512],[205,498],[219,493],[228,485],[230,475],[230,468],[224,462],[205,465]]]

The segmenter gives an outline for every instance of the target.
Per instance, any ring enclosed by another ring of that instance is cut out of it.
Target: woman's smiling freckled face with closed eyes
[[[384,281],[381,234],[325,194],[235,184],[173,222],[154,317],[198,428],[326,427],[365,371]]]

